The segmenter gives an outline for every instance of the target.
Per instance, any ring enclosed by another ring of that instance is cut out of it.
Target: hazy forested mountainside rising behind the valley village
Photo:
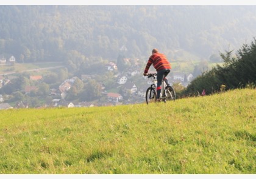
[[[208,59],[255,36],[254,5],[1,5],[1,58]],[[82,58],[82,57],[81,57]]]

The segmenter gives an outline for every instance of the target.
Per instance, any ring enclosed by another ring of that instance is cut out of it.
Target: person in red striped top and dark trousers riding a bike
[[[171,71],[171,64],[168,59],[162,53],[159,53],[157,49],[152,50],[152,55],[148,59],[148,63],[144,69],[143,75],[146,76],[149,68],[153,64],[155,70],[157,70],[157,101],[160,101],[161,85],[163,76],[167,76]],[[169,85],[168,79],[165,78],[165,83]]]

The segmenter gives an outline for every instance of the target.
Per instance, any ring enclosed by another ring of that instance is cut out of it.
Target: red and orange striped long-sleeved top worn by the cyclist
[[[168,59],[162,53],[154,53],[149,57],[148,63],[145,67],[144,73],[148,73],[149,67],[153,64],[157,72],[163,69],[171,69],[171,64]]]

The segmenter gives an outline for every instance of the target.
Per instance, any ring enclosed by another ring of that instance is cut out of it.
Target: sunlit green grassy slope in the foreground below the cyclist
[[[256,90],[0,111],[0,174],[256,174]]]

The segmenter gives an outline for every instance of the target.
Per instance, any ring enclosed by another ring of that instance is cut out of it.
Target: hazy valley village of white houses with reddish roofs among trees
[[[131,59],[126,59],[127,61]],[[136,59],[137,61],[139,59]],[[135,61],[136,61],[135,60]],[[134,61],[134,60],[133,60]],[[9,60],[1,58],[0,64],[13,64],[15,63],[15,57],[11,56]],[[110,61],[105,64],[106,72],[113,72],[114,83],[112,84],[112,89],[106,89],[104,83],[99,83],[100,92],[99,95],[94,100],[71,100],[70,97],[67,98],[71,93],[71,89],[74,86],[76,80],[82,81],[87,85],[88,81],[91,79],[96,79],[97,76],[94,74],[82,74],[80,76],[73,76],[71,78],[65,79],[60,82],[58,88],[51,88],[48,92],[48,103],[41,106],[31,106],[27,101],[15,101],[16,103],[11,105],[8,103],[10,101],[10,96],[0,93],[0,109],[12,109],[12,108],[29,108],[29,107],[94,107],[94,106],[117,106],[135,103],[144,103],[146,89],[150,86],[148,79],[143,76],[144,66],[140,63],[135,63],[130,66],[128,70],[123,72],[118,72],[118,66],[115,62]],[[155,73],[151,71],[149,73]],[[37,84],[43,82],[43,75],[30,75],[30,81],[37,81]],[[185,74],[181,72],[171,72],[168,75],[169,82],[171,84],[179,84],[186,87],[190,81],[193,79],[193,75]],[[6,76],[0,75],[0,89],[11,83],[10,79]],[[30,93],[37,93],[38,87],[40,86],[25,86],[21,89],[23,95],[30,95]],[[34,96],[36,98],[36,96]],[[12,100],[11,100],[12,101]]]

